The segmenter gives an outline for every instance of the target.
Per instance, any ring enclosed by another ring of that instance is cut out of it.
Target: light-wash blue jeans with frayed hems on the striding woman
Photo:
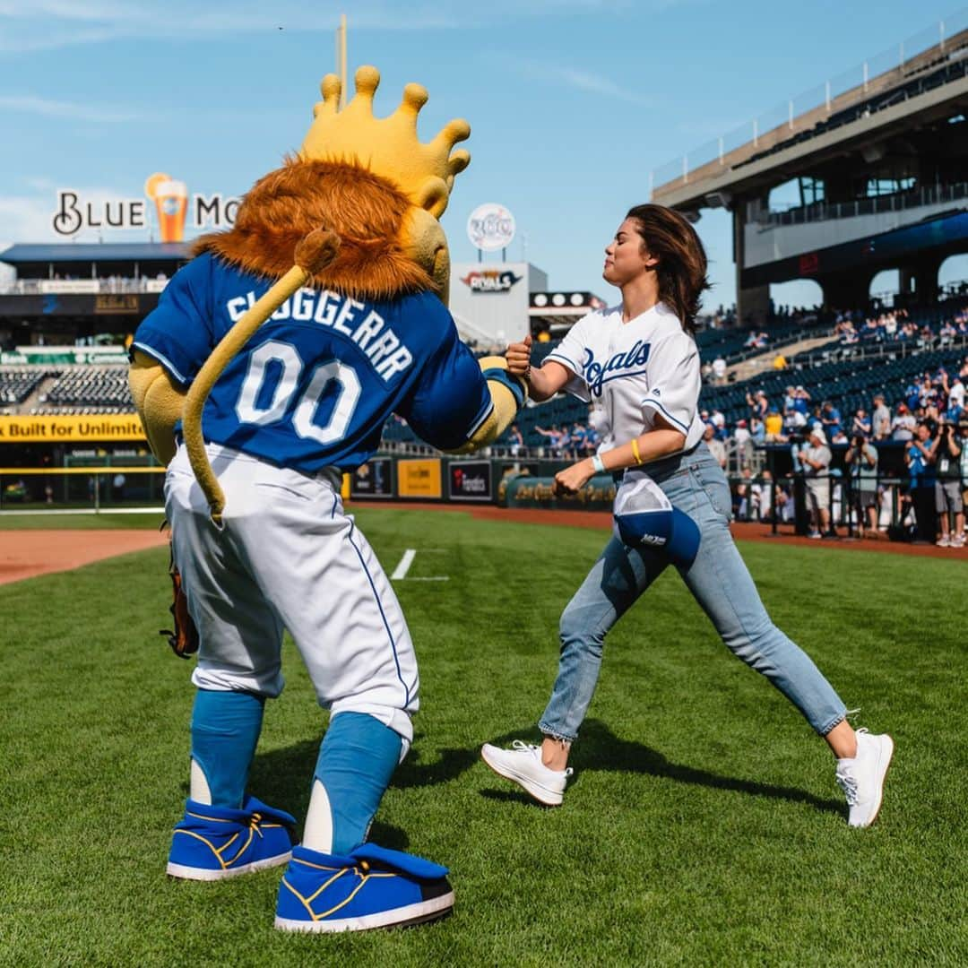
[[[699,553],[680,573],[723,642],[825,736],[846,708],[810,657],[767,615],[730,534],[729,485],[706,444],[646,469],[673,505],[699,526]],[[667,563],[661,553],[626,548],[615,537],[605,546],[561,615],[558,679],[538,723],[546,736],[565,741],[578,736],[598,681],[606,633]]]

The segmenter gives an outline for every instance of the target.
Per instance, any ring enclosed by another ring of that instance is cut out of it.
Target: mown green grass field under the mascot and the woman
[[[449,576],[396,584],[422,709],[372,837],[448,864],[455,914],[294,936],[272,927],[278,870],[166,879],[192,689],[157,635],[160,549],[0,587],[4,964],[968,963],[963,564],[742,546],[774,619],[862,708],[857,724],[894,737],[870,830],[847,827],[825,744],[719,644],[674,573],[610,636],[575,781],[547,810],[477,750],[537,738],[560,611],[604,534],[425,511],[357,520],[387,571],[415,548],[411,576]],[[287,680],[251,786],[301,817],[324,720],[291,646]]]

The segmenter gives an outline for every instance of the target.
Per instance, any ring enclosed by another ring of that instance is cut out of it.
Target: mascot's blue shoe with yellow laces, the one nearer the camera
[[[284,931],[365,931],[448,914],[447,868],[400,851],[362,844],[347,857],[292,849],[279,886],[276,927]]]

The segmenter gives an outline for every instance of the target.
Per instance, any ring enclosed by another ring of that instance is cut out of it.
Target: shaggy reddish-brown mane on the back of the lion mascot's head
[[[234,227],[195,241],[257,275],[279,278],[296,244],[314,228],[340,236],[340,251],[313,285],[355,298],[385,299],[433,289],[430,275],[405,255],[401,228],[410,203],[393,185],[349,162],[287,158],[260,178],[239,206]]]

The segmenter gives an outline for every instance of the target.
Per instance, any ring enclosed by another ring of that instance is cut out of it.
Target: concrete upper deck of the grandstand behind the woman
[[[968,252],[966,118],[962,15],[654,171],[652,199],[732,213],[742,322],[765,324],[771,284],[792,280],[865,306],[885,269],[902,303],[928,306],[942,262]],[[781,188],[799,196],[785,210]]]

